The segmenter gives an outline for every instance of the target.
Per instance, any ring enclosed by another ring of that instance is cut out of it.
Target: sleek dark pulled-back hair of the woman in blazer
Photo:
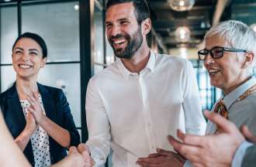
[[[32,32],[25,32],[22,35],[18,36],[18,38],[16,39],[15,43],[12,46],[12,50],[16,46],[16,43],[18,43],[19,39],[22,39],[22,38],[29,38],[29,39],[33,39],[34,41],[36,41],[36,43],[38,43],[38,45],[42,49],[43,58],[47,57],[47,44],[44,42],[44,40],[41,36],[37,35],[36,33],[32,33]]]

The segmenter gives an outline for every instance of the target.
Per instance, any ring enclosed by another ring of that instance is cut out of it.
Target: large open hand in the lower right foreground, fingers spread
[[[216,135],[185,135],[177,131],[178,141],[169,136],[171,145],[177,152],[188,158],[194,166],[230,166],[233,155],[244,141],[244,136],[235,124],[220,114],[205,111],[206,118],[220,127]]]

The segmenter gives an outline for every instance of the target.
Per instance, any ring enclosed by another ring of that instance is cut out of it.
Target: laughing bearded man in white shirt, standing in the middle
[[[113,166],[139,166],[137,159],[156,148],[173,150],[167,136],[177,128],[202,135],[206,122],[192,64],[147,46],[147,2],[109,0],[105,25],[117,58],[88,83],[85,145],[95,165],[103,165],[112,148]]]

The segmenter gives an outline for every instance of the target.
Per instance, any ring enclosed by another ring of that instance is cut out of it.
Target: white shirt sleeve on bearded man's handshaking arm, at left
[[[88,83],[85,110],[88,126],[88,141],[86,145],[90,148],[95,166],[103,165],[106,162],[110,150],[110,126],[94,78]]]

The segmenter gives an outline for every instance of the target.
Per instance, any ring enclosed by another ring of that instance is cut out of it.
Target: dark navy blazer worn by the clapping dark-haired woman
[[[54,121],[69,131],[71,135],[71,145],[77,146],[80,143],[80,135],[75,127],[71,110],[67,99],[61,89],[55,87],[43,86],[37,83],[39,92],[42,97],[43,107],[47,118]],[[19,96],[16,90],[16,83],[8,90],[0,94],[0,105],[2,107],[2,114],[5,122],[12,134],[13,138],[17,138],[26,126],[26,119],[19,102]],[[50,160],[52,164],[60,161],[67,155],[66,149],[57,144],[53,138],[50,138]],[[23,152],[31,165],[34,165],[34,156],[31,141]]]

